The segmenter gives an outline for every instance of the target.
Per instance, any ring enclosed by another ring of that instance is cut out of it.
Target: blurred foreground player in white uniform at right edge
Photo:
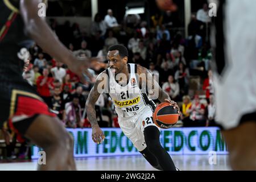
[[[212,46],[216,117],[232,169],[256,169],[256,1],[221,0]]]

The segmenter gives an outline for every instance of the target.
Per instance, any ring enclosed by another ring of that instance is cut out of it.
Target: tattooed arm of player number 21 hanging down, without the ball
[[[86,113],[88,115],[89,122],[92,125],[92,139],[93,142],[98,144],[104,140],[105,136],[103,131],[100,129],[100,126],[98,126],[95,103],[97,102],[98,97],[100,97],[105,88],[105,84],[107,83],[106,77],[104,76],[106,76],[105,71],[96,78],[96,82],[94,83],[92,90],[90,90],[85,104]]]

